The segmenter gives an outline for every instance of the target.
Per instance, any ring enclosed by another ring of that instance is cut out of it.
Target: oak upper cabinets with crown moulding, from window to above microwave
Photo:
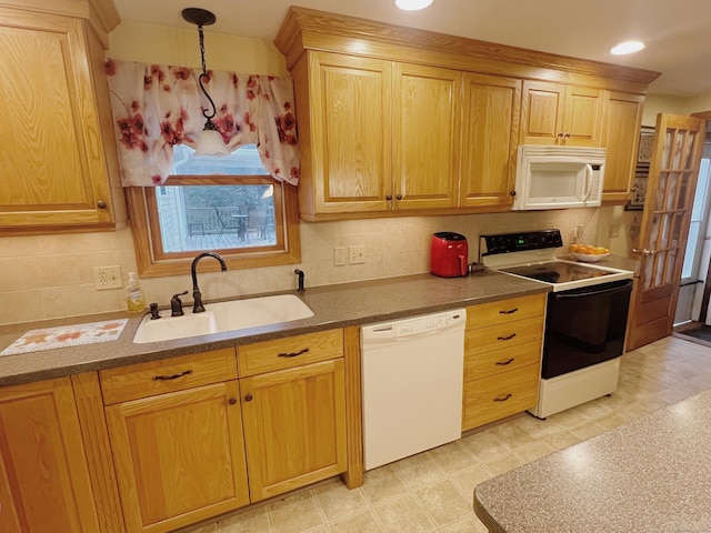
[[[659,72],[291,7],[310,221],[505,211],[519,144],[602,147],[608,91]]]

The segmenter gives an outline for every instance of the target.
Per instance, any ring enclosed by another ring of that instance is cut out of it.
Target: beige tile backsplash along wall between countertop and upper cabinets
[[[301,222],[302,262],[299,265],[233,270],[200,274],[203,299],[296,289],[294,268],[306,272],[308,286],[392,278],[429,271],[430,240],[437,231],[462,233],[469,260],[477,260],[479,235],[508,231],[560,228],[568,244],[578,224],[583,240],[594,242],[599,210],[404,217]],[[365,247],[363,264],[333,264],[334,247]],[[0,239],[0,324],[80,316],[126,309],[123,289],[98,291],[93,268],[120,265],[137,271],[129,228],[107,233],[77,233]],[[170,296],[191,288],[190,275],[141,280],[148,302],[164,306]],[[186,296],[186,302],[190,296]]]

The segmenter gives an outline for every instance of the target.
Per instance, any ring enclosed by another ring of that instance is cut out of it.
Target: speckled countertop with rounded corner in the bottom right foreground
[[[474,489],[490,532],[711,531],[711,391]]]

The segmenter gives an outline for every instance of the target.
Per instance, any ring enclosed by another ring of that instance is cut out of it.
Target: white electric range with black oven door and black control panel
[[[545,283],[541,380],[535,409],[551,414],[617,390],[634,273],[555,258],[560,230],[481,235],[485,266]]]

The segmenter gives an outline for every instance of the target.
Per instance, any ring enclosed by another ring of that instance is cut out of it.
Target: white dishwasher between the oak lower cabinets
[[[361,328],[365,470],[461,436],[465,324],[457,309]]]

